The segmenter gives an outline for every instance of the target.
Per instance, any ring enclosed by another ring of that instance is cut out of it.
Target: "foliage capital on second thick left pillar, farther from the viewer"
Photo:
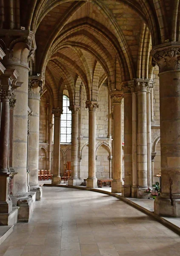
[[[43,92],[43,81],[40,79],[29,79],[28,97],[31,99],[40,99]]]

